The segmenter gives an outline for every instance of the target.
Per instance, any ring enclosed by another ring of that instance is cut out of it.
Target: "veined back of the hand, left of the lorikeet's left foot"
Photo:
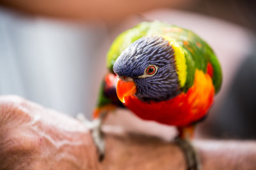
[[[77,120],[15,96],[0,97],[0,169],[97,169]]]

